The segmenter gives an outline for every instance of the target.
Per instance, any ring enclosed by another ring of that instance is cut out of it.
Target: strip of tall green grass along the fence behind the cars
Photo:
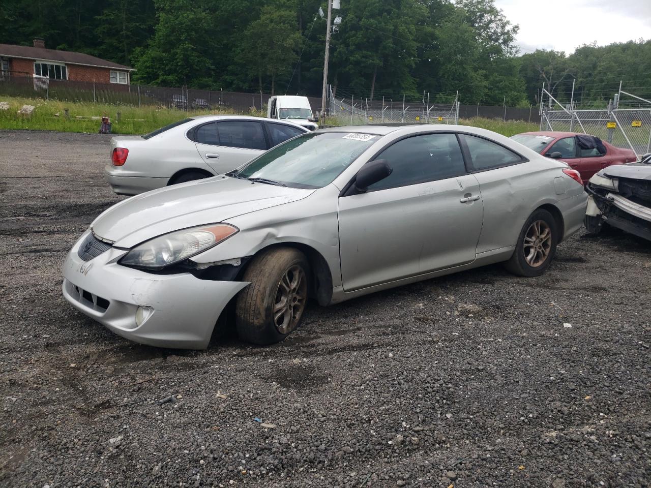
[[[56,100],[7,96],[0,96],[0,102],[9,103],[8,110],[0,110],[0,129],[35,129],[61,132],[97,132],[100,129],[101,122],[91,117],[101,117],[104,114],[111,118],[113,133],[145,134],[193,115],[233,113],[232,111],[215,109],[184,112],[163,107],[57,102]],[[18,115],[18,110],[23,105],[34,105],[36,107],[31,117]],[[68,109],[69,118],[66,118],[64,109]],[[120,112],[119,121],[117,120],[118,112]],[[264,116],[266,114],[252,109],[249,115]],[[331,125],[337,125],[336,122],[336,118],[327,118],[326,120],[326,123]],[[538,124],[530,124],[519,120],[504,122],[503,120],[491,118],[469,118],[459,120],[459,123],[465,126],[490,129],[507,137],[520,132],[538,129]]]

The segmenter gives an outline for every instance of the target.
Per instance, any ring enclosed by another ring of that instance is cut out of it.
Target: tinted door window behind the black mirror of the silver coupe
[[[445,180],[465,174],[456,135],[449,133],[415,135],[395,142],[377,159],[385,159],[393,172],[368,191],[385,190],[416,183]]]

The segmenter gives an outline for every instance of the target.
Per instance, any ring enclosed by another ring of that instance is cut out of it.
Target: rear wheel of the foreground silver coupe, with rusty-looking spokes
[[[547,271],[559,241],[557,224],[547,210],[536,210],[524,224],[516,250],[505,263],[514,275],[534,277]]]

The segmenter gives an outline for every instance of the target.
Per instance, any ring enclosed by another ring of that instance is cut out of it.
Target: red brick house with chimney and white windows
[[[129,85],[133,71],[129,66],[88,54],[46,49],[42,39],[35,39],[34,46],[0,44],[0,77],[22,75]]]

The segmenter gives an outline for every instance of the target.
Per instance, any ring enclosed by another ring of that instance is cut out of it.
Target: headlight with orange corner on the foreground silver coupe
[[[177,230],[137,245],[120,261],[125,266],[161,269],[204,252],[238,232],[229,224],[214,224]]]

